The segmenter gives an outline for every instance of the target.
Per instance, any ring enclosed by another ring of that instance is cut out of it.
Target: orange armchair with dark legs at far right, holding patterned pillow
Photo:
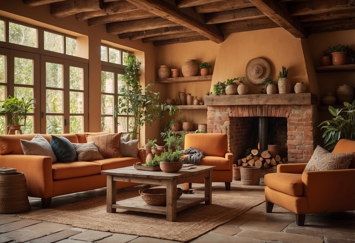
[[[355,141],[339,140],[332,153],[354,153]],[[274,204],[296,214],[304,225],[307,213],[355,210],[355,158],[349,169],[304,171],[305,164],[280,164],[277,173],[266,174],[266,212]]]

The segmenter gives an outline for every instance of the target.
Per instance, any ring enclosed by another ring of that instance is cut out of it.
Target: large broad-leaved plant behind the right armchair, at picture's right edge
[[[331,120],[322,122],[324,128],[325,149],[331,150],[340,139],[355,140],[355,100],[353,103],[344,102],[343,108],[329,106],[329,112],[334,116]]]

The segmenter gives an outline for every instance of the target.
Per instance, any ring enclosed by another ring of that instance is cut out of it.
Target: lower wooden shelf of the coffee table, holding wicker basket
[[[205,197],[203,193],[182,194],[181,197],[176,201],[176,212],[205,202],[207,200],[209,200],[208,197]],[[166,215],[165,205],[149,205],[143,201],[141,196],[118,201],[116,204],[112,205],[112,208]]]

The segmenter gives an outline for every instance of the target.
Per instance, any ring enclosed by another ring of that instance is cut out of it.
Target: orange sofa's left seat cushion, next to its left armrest
[[[101,166],[91,162],[70,162],[52,164],[53,180],[76,178],[101,173]]]

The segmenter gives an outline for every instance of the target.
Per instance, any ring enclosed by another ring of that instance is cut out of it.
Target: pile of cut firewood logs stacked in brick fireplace
[[[267,169],[271,166],[276,166],[278,164],[287,164],[288,159],[281,158],[278,154],[275,157],[271,157],[269,150],[259,152],[258,149],[252,149],[251,153],[244,158],[238,159],[239,166],[259,166],[261,168]]]

